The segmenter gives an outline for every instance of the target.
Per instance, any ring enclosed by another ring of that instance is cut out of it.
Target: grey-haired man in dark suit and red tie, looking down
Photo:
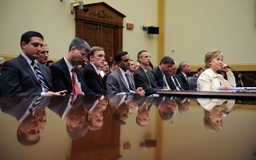
[[[69,45],[69,53],[50,66],[53,85],[57,91],[67,90],[67,94],[94,94],[85,84],[83,71],[77,64],[90,53],[90,46],[78,37]]]

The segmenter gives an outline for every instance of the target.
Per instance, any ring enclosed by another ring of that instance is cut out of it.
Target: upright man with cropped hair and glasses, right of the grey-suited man
[[[137,55],[138,61],[140,62],[141,66],[138,68],[138,70],[134,73],[134,80],[136,88],[142,87],[145,91],[145,95],[151,95],[156,93],[157,91],[160,91],[161,88],[157,85],[155,82],[155,78],[153,73],[148,71],[147,66],[150,62],[150,55],[148,51],[142,50]],[[170,90],[170,89],[164,89],[164,90]]]

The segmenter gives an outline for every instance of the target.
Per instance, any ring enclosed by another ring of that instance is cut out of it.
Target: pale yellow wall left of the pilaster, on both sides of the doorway
[[[102,1],[84,0],[84,4]],[[127,16],[124,18],[123,50],[134,60],[137,60],[139,51],[148,50],[152,63],[156,64],[157,36],[152,38],[141,27],[157,26],[157,0],[104,2]],[[70,14],[70,8],[70,0],[1,0],[0,56],[7,56],[7,59],[17,57],[21,53],[21,35],[29,30],[44,36],[44,41],[50,46],[49,59],[56,60],[65,56],[75,36],[75,15]],[[126,23],[134,23],[134,29],[127,30]]]

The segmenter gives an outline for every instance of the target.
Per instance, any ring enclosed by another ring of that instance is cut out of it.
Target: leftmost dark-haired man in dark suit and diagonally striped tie
[[[52,85],[51,69],[36,59],[44,41],[42,34],[29,31],[21,36],[22,53],[2,65],[2,96],[61,96]]]

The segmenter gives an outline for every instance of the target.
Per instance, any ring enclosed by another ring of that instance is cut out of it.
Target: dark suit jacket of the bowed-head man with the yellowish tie
[[[159,66],[157,68],[155,68],[154,70],[152,70],[151,73],[153,73],[153,75],[155,77],[155,81],[157,82],[157,85],[159,87],[164,87],[164,80],[163,80],[161,70],[159,69]],[[170,89],[171,90],[176,90],[175,84],[171,80],[170,73],[165,74],[165,77],[166,77],[166,81],[167,81]]]

